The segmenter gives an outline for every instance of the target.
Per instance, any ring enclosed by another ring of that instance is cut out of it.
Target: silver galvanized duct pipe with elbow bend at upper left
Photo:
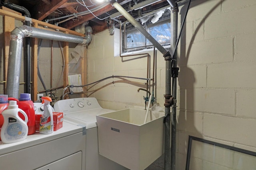
[[[22,25],[16,27],[10,36],[10,49],[8,60],[7,86],[6,91],[8,96],[18,98],[20,67],[22,58],[22,45],[24,37],[34,37],[41,39],[50,39],[56,41],[66,41],[70,43],[88,44],[92,40],[92,28],[86,27],[86,36],[80,37],[77,35],[69,35],[57,31],[49,31]]]

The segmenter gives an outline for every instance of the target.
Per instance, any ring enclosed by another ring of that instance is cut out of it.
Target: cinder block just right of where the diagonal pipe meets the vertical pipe
[[[183,47],[181,47],[183,48]],[[186,46],[186,55],[179,59],[180,66],[191,64],[212,64],[233,61],[233,39],[214,39]]]

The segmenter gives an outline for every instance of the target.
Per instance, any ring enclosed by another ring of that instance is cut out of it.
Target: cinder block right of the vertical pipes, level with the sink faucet
[[[180,89],[180,108],[234,115],[233,90]]]

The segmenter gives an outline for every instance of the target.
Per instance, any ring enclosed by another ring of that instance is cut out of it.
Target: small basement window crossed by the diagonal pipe
[[[154,17],[153,17],[154,18]],[[152,37],[156,39],[161,45],[168,46],[170,45],[171,40],[171,23],[170,23],[170,12],[165,12],[162,14],[162,17],[158,21],[152,23],[153,18],[145,19],[142,22],[142,26]],[[138,51],[143,49],[150,49],[154,46],[152,43],[146,39],[138,29],[136,29],[132,24],[127,24],[123,31],[123,43],[122,43],[122,52],[131,52]]]

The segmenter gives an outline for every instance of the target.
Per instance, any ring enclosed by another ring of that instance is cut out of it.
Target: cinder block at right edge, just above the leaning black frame
[[[209,137],[256,147],[256,120],[204,113],[204,132]]]

